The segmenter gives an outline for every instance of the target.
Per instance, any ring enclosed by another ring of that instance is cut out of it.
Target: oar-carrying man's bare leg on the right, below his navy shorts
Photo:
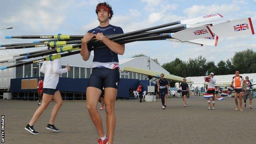
[[[114,139],[114,129],[116,126],[116,114],[114,111],[114,102],[117,96],[117,89],[112,87],[106,87],[104,90],[105,90],[104,103],[106,106],[106,115],[107,115],[108,144],[112,144]]]

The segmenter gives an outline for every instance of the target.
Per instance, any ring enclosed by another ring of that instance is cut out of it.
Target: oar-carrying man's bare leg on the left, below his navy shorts
[[[98,99],[100,98],[100,96],[101,96],[101,89],[98,89],[96,87],[87,87],[87,90],[86,90],[87,110],[89,112],[92,122],[94,123],[94,126],[98,131],[99,137],[104,137],[105,133],[103,131],[101,115],[97,110]]]

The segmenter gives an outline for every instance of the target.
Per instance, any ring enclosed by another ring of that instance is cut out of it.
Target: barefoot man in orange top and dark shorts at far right
[[[244,83],[245,90],[246,90],[246,82],[245,79],[239,75],[239,71],[235,70],[235,76],[232,78],[231,86],[234,87],[234,96],[235,96],[235,111],[238,110],[238,95],[239,95],[239,105],[240,105],[240,111],[242,112],[242,83]]]

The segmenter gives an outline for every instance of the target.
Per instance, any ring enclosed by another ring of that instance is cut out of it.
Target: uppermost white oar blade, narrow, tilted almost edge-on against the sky
[[[182,20],[180,22],[181,22],[181,24],[193,25],[195,23],[204,23],[207,21],[214,21],[214,20],[219,20],[222,18],[223,18],[223,16],[221,14],[216,13],[216,14],[209,14],[209,15],[205,15],[205,16],[199,16],[197,18]]]

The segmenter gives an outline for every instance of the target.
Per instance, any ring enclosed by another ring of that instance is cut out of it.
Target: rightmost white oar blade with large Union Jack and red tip
[[[213,25],[210,29],[220,38],[254,34],[251,18],[238,19]]]

